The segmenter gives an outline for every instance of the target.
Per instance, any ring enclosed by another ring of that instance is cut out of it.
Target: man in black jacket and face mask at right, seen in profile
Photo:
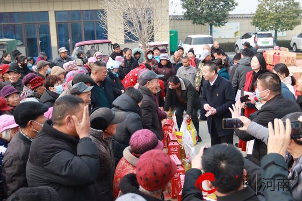
[[[301,108],[287,97],[281,94],[281,80],[273,72],[266,72],[259,75],[257,80],[256,95],[258,99],[266,101],[261,110],[250,115],[249,119],[264,127],[274,119],[281,119],[285,115],[294,112],[301,112]],[[251,119],[254,117],[254,119]],[[260,161],[267,154],[267,145],[261,140],[247,134],[246,131],[235,129],[237,136],[244,141],[255,140],[252,155],[248,159],[260,166]]]

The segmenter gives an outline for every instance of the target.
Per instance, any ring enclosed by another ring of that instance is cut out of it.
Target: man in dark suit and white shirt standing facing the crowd
[[[201,106],[208,111],[207,124],[211,135],[211,146],[220,143],[233,144],[233,129],[223,130],[222,119],[231,118],[229,107],[235,103],[232,83],[217,74],[217,64],[208,61],[203,65]]]

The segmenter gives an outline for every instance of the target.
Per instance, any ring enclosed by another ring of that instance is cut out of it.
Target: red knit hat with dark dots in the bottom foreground
[[[136,179],[146,190],[165,187],[176,173],[176,164],[162,150],[150,150],[142,154],[136,163]]]

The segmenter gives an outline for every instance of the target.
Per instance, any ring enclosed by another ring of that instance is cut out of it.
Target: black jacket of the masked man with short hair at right
[[[282,94],[278,94],[266,102],[261,110],[255,112],[257,115],[252,121],[267,127],[268,123],[273,123],[275,118],[281,119],[285,115],[294,112],[301,112],[301,108],[293,100],[284,97]],[[253,154],[249,160],[260,166],[261,159],[267,154],[267,145],[261,140],[249,135],[246,131],[235,129],[235,132],[241,140],[255,140]]]

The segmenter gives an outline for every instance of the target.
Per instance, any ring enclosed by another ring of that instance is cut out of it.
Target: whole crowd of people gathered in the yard
[[[218,201],[300,200],[302,141],[290,139],[287,119],[302,122],[302,78],[282,63],[270,71],[262,54],[244,47],[233,59],[217,41],[200,57],[181,46],[170,57],[165,48],[116,43],[109,58],[94,46],[77,59],[61,47],[53,61],[45,52],[4,53],[0,200],[163,200],[176,173],[163,151],[169,110],[178,129],[184,117],[192,121],[198,142],[207,135],[199,121],[207,121],[211,139],[186,172],[182,200],[203,200],[200,170],[213,173],[206,184]],[[236,101],[239,90],[250,92],[247,102]],[[225,118],[244,126],[223,129]],[[236,148],[249,146],[247,158]],[[221,185],[222,177],[256,173],[247,186]],[[288,191],[265,188],[264,178],[289,179]]]

